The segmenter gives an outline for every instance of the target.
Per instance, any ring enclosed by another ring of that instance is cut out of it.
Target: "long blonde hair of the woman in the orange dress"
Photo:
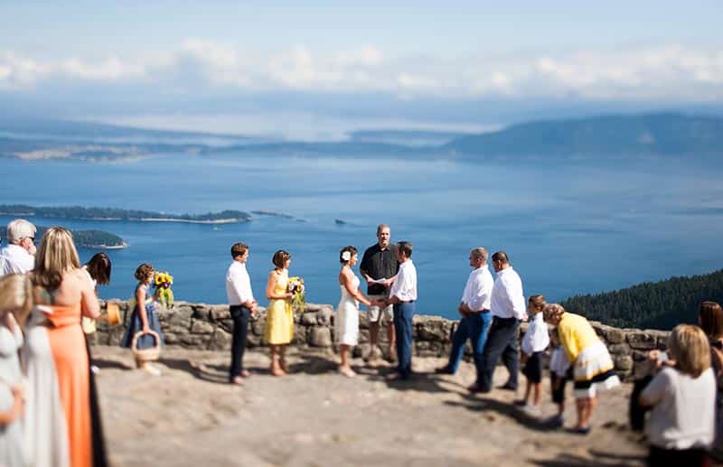
[[[62,276],[80,268],[78,250],[73,243],[70,230],[52,227],[42,236],[42,242],[35,254],[33,282],[44,288],[56,289],[62,283]]]

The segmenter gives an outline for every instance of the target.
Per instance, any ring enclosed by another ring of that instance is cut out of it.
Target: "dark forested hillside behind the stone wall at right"
[[[698,322],[698,305],[723,303],[723,269],[710,274],[671,277],[602,294],[576,295],[561,302],[566,310],[623,328],[672,329]]]

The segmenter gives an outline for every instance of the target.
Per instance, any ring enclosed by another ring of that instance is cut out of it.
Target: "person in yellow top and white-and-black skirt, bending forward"
[[[620,379],[613,371],[613,360],[605,343],[583,316],[567,313],[559,304],[545,307],[544,319],[557,327],[559,341],[572,364],[577,406],[577,434],[590,432],[590,418],[596,405],[597,389],[615,388]]]

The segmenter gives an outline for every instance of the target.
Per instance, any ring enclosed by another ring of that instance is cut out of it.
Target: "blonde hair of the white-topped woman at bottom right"
[[[668,338],[668,351],[675,367],[693,378],[710,368],[710,346],[705,332],[692,324],[675,326]]]

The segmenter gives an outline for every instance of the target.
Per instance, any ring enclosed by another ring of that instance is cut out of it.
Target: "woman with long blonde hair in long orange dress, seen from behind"
[[[70,231],[45,232],[32,273],[35,307],[23,347],[28,386],[26,456],[30,465],[105,465],[95,387],[80,317],[99,303],[80,269]]]

